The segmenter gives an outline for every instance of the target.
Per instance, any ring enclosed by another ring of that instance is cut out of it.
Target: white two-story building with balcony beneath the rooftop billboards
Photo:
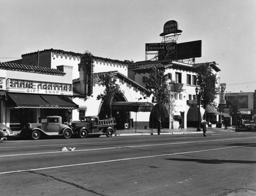
[[[214,74],[218,77],[220,71],[216,62],[188,64],[177,61],[140,61],[129,65],[128,76],[134,81],[145,85],[152,68],[164,68],[165,74],[168,75],[168,81],[171,85],[171,94],[176,100],[175,112],[173,114],[174,127],[178,127],[177,119],[179,116],[183,119],[183,127],[197,126],[198,119],[202,119],[202,115],[206,113],[209,123],[216,124],[219,120],[219,113],[216,111],[219,103],[219,95],[214,103],[211,103],[206,110],[200,106],[200,114],[198,113],[198,102],[196,97],[197,74],[196,69],[199,66],[210,66]],[[217,86],[217,85],[216,85]],[[166,108],[166,111],[169,111]],[[163,120],[168,121],[168,112],[164,113]],[[198,116],[200,115],[200,116]],[[168,125],[170,122],[164,122]]]

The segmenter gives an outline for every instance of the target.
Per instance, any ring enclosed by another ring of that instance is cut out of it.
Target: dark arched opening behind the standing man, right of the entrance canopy
[[[160,109],[160,112],[159,112]],[[158,103],[153,107],[150,114],[150,128],[157,128],[157,120],[161,118],[162,128],[169,128],[169,113],[164,105],[159,105]]]

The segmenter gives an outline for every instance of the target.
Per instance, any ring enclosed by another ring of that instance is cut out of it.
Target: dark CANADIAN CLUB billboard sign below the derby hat
[[[148,51],[176,51],[176,42],[146,43],[145,50]]]

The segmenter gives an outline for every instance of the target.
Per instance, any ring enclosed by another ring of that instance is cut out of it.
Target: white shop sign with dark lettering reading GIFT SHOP
[[[72,84],[17,80],[8,78],[6,90],[15,93],[32,93],[46,95],[73,95]]]

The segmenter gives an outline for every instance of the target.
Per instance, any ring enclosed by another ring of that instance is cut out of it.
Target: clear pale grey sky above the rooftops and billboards
[[[176,20],[177,43],[202,40],[196,63],[215,61],[226,92],[256,90],[255,0],[0,0],[0,61],[45,49],[145,60]]]

